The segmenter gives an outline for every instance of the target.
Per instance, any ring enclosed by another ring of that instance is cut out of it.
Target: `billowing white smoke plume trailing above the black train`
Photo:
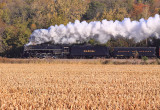
[[[68,23],[66,26],[50,26],[48,29],[35,30],[27,45],[54,42],[56,44],[72,44],[87,41],[91,38],[101,43],[107,42],[111,36],[134,38],[137,42],[150,36],[160,37],[160,15],[156,14],[148,20],[140,19],[131,21],[125,18],[123,21],[86,21]]]

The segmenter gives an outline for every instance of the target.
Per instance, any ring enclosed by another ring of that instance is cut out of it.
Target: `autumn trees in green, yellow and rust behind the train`
[[[155,14],[160,14],[160,0],[1,0],[0,55],[19,57],[35,29],[66,25],[75,20],[121,21],[125,17],[139,20]],[[111,38],[105,45],[159,46],[155,39],[152,37],[136,43],[134,39],[120,36]],[[97,42],[91,39],[89,43]]]

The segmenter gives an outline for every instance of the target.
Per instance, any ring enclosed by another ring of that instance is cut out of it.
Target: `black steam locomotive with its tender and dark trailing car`
[[[102,45],[53,45],[38,44],[24,47],[24,57],[37,58],[154,58],[160,56],[156,47],[115,47]]]

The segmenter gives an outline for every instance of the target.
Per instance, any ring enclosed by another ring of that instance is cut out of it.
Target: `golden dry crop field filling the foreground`
[[[160,109],[160,66],[0,64],[0,109]]]

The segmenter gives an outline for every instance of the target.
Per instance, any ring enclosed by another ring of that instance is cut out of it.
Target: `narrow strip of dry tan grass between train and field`
[[[159,65],[157,59],[16,59],[0,57],[0,63],[7,64],[111,64],[111,65]]]

